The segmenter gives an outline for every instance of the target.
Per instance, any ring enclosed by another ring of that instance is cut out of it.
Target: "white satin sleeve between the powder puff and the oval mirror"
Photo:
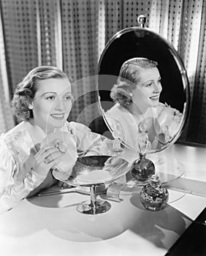
[[[112,148],[112,140],[91,132],[84,124],[72,123],[72,132],[75,134],[78,154],[107,155]],[[70,123],[70,124],[71,124]]]

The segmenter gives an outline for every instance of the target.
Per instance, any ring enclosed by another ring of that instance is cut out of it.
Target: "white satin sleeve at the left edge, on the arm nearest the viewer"
[[[17,181],[14,176],[19,171],[19,163],[10,154],[4,139],[0,138],[0,213],[17,205],[46,178],[31,169],[24,178]]]

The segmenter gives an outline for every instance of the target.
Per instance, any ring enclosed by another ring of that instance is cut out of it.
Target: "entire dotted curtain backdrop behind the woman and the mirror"
[[[188,73],[191,109],[180,139],[206,143],[204,0],[0,0],[0,4],[2,129],[13,125],[5,110],[7,95],[12,96],[17,83],[37,65],[60,67],[75,80],[69,118],[88,125],[100,115],[94,93],[99,56],[116,32],[138,26],[137,17],[143,14],[146,26],[178,50]]]

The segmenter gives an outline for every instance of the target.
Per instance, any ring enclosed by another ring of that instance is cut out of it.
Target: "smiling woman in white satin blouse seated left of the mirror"
[[[12,111],[20,123],[0,137],[0,211],[68,176],[80,154],[105,154],[106,138],[66,121],[71,80],[57,67],[36,67],[18,84]],[[29,194],[30,193],[30,194]]]

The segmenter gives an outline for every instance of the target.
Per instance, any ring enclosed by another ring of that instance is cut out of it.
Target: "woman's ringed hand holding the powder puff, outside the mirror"
[[[47,175],[49,170],[57,164],[63,153],[53,145],[43,146],[34,157],[33,170],[41,175]]]

